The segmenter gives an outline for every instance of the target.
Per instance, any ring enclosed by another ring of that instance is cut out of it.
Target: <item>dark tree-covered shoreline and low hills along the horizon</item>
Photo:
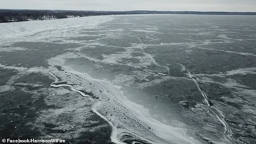
[[[251,12],[197,12],[197,11],[88,11],[88,10],[10,10],[0,9],[0,23],[63,19],[96,15],[136,15],[136,14],[191,14],[191,15],[256,15]]]

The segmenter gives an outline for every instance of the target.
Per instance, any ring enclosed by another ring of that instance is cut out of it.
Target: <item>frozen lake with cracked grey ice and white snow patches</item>
[[[0,23],[0,134],[256,143],[255,44],[255,16]]]

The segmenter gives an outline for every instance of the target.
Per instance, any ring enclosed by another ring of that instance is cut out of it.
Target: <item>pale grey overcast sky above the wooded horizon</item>
[[[256,0],[0,0],[0,8],[256,12]]]

